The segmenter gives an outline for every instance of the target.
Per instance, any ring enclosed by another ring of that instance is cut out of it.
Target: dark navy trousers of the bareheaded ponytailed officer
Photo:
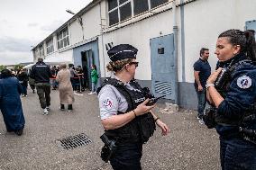
[[[239,137],[220,137],[220,157],[223,170],[255,170],[256,145]]]

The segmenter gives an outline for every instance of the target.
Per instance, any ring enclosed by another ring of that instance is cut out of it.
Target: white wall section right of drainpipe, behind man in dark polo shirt
[[[244,30],[246,21],[256,19],[255,10],[255,0],[204,0],[185,5],[186,82],[194,82],[193,64],[199,50],[210,49],[209,63],[214,71],[218,35],[229,29]]]

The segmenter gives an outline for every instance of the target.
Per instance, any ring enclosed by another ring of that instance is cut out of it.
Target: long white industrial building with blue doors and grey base
[[[217,36],[229,29],[256,31],[255,0],[94,0],[33,49],[34,61],[96,64],[110,76],[107,49],[128,43],[139,49],[136,79],[155,95],[195,109],[193,64],[202,47],[215,69]]]

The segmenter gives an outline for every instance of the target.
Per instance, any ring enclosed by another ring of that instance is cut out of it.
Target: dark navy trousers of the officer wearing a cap
[[[142,170],[142,144],[128,143],[118,146],[110,164],[114,170]]]

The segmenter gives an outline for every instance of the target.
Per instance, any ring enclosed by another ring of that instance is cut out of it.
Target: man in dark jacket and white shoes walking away
[[[47,115],[50,110],[50,66],[43,62],[43,58],[38,58],[38,62],[32,66],[30,76],[35,80],[43,114]]]

